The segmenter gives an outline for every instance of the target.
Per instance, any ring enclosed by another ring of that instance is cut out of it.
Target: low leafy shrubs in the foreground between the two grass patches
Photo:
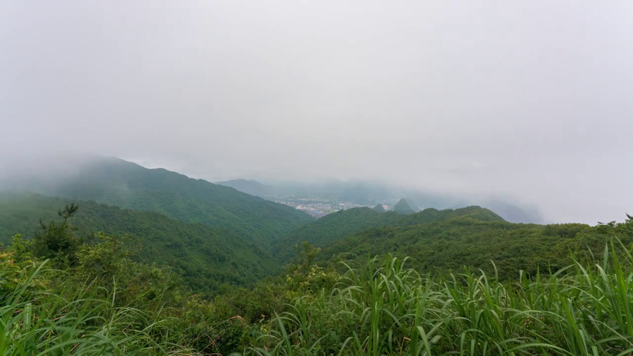
[[[275,277],[254,288],[231,288],[213,301],[187,298],[176,310],[177,328],[186,331],[199,352],[229,355],[244,352],[269,329],[275,312],[289,310],[296,298],[306,298],[334,288],[339,274],[331,267],[309,265],[318,249],[303,246],[304,265],[289,265]],[[306,248],[307,247],[307,248]]]

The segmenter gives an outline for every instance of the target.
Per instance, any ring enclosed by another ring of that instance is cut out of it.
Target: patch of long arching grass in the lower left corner
[[[0,258],[0,355],[189,354],[160,310],[115,307],[115,291],[94,298],[90,285],[53,292],[39,279],[45,265]]]

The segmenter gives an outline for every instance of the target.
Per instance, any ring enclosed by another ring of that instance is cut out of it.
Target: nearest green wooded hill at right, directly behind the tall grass
[[[590,230],[584,224],[513,224],[465,215],[413,226],[368,229],[325,248],[321,257],[393,253],[414,258],[420,270],[470,267],[494,274],[492,261],[499,276],[506,279],[518,276],[521,269],[536,274],[538,269],[548,270],[550,264],[554,270],[572,264],[570,251],[582,259],[587,257],[587,248],[604,249],[605,236],[591,234]]]

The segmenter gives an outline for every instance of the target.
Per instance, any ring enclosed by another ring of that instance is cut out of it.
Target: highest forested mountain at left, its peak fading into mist
[[[286,205],[234,188],[191,179],[163,168],[148,169],[118,158],[94,157],[72,165],[55,179],[46,172],[13,183],[14,190],[34,191],[73,200],[94,200],[134,210],[164,213],[184,222],[225,227],[268,245],[312,218]]]

